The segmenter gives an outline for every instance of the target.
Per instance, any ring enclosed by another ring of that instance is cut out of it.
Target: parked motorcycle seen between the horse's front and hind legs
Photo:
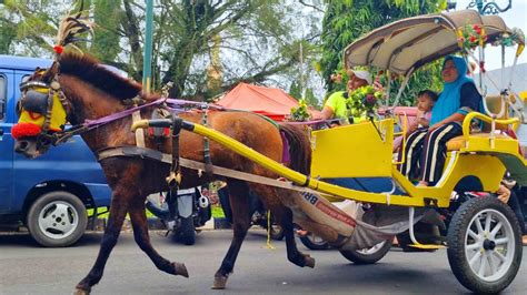
[[[201,227],[212,216],[210,200],[200,187],[179,190],[176,196],[160,193],[147,199],[146,207],[172,232],[172,238],[185,245],[196,243],[196,227]]]

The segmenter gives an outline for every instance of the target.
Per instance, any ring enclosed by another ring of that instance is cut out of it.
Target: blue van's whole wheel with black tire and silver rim
[[[76,195],[56,191],[43,194],[31,205],[27,225],[31,236],[46,247],[67,247],[84,234],[88,215]]]

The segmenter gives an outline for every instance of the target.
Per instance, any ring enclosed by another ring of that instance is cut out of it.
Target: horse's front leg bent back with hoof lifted
[[[138,201],[141,201],[138,199]],[[160,269],[166,273],[172,275],[182,275],[185,277],[189,277],[187,272],[187,267],[185,264],[173,262],[170,263],[166,258],[163,258],[159,253],[152,247],[150,243],[150,236],[148,235],[148,226],[147,226],[147,214],[145,212],[145,203],[133,201],[133,204],[130,205],[130,218],[133,226],[133,237],[136,238],[136,243],[139,247],[150,257],[153,264]]]

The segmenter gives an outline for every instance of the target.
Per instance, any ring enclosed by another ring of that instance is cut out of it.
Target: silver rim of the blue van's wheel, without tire
[[[54,201],[47,204],[39,214],[39,228],[50,238],[69,236],[79,224],[79,213],[69,203]]]

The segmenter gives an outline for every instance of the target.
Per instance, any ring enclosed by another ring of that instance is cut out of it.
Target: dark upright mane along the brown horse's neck
[[[141,91],[139,83],[118,75],[90,55],[64,52],[59,63],[61,74],[77,77],[120,100],[132,99]]]

